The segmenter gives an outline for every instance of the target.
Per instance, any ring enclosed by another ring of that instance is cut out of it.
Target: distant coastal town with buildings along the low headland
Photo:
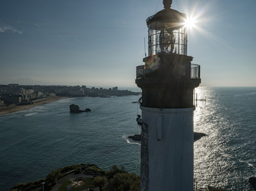
[[[114,88],[87,88],[86,85],[0,85],[0,109],[9,106],[26,106],[42,99],[57,97],[110,97],[137,95],[137,92]]]

